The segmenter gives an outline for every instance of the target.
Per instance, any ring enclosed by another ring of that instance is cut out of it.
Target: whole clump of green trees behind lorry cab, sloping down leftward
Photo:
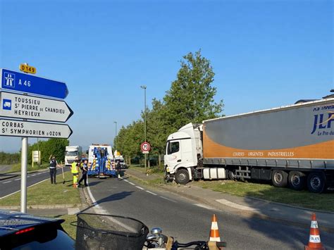
[[[187,123],[216,118],[223,110],[222,100],[214,102],[216,88],[211,86],[214,71],[210,61],[201,55],[200,50],[183,56],[183,59],[171,89],[162,101],[153,99],[151,110],[147,109],[147,142],[151,144],[151,154],[159,157],[165,151],[169,134]],[[142,157],[143,120],[134,121],[118,132],[114,145],[123,155]]]

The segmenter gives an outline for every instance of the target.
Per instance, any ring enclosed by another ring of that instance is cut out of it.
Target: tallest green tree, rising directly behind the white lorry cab
[[[200,50],[195,54],[190,52],[183,59],[176,80],[163,97],[168,134],[187,123],[216,118],[223,111],[223,100],[214,102],[217,90],[211,86],[215,74],[210,61]]]

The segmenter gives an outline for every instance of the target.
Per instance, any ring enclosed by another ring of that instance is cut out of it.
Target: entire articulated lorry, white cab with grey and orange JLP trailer
[[[310,192],[334,186],[334,98],[189,123],[168,136],[165,178],[269,180]]]

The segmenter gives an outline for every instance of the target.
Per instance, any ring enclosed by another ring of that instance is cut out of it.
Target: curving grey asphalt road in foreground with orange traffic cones
[[[179,242],[208,240],[213,213],[227,249],[304,249],[309,240],[309,229],[217,211],[168,192],[147,189],[130,179],[90,178],[89,189],[106,212],[135,218],[149,229],[161,227],[163,234]],[[334,247],[329,233],[321,232],[321,242],[327,249]]]

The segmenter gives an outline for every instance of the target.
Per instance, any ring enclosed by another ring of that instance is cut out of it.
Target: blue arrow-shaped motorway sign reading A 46
[[[0,89],[49,96],[58,99],[65,99],[68,95],[65,82],[49,80],[47,78],[6,70],[4,68],[1,69]]]

